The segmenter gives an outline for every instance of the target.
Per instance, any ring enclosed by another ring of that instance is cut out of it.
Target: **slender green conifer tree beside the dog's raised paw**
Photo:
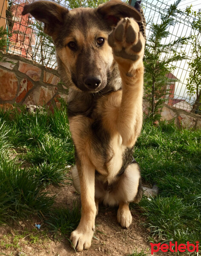
[[[181,14],[177,9],[181,0],[171,4],[168,9],[161,14],[161,23],[152,23],[150,35],[146,41],[144,53],[144,98],[149,102],[149,117],[154,120],[160,119],[160,109],[167,100],[169,93],[167,85],[172,79],[167,75],[175,69],[173,62],[181,61],[185,57],[185,52],[180,51],[183,44],[186,44],[187,38],[178,38],[168,43],[162,43],[162,39],[170,35],[169,28],[174,26],[176,16]],[[175,81],[175,80],[174,80]]]

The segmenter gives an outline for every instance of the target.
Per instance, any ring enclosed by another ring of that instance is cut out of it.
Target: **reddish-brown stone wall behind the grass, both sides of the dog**
[[[35,64],[17,55],[4,54],[9,62],[0,62],[0,106],[60,106],[59,98],[67,101],[68,89],[60,82],[57,70]],[[143,108],[146,113],[147,102]],[[172,121],[181,128],[201,128],[201,116],[164,104],[161,120]]]

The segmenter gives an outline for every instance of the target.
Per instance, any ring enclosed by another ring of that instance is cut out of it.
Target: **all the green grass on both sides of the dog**
[[[134,157],[144,183],[157,183],[160,189],[156,198],[140,203],[150,240],[195,243],[201,233],[201,130],[145,122]],[[79,207],[54,209],[54,198],[43,191],[48,184],[64,183],[73,163],[64,105],[54,113],[0,111],[0,223],[34,213],[45,217],[56,235],[69,234],[80,219]]]

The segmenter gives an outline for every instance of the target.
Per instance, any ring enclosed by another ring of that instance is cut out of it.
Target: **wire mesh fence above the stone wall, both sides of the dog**
[[[104,0],[93,1],[93,6],[97,6]],[[42,64],[47,67],[57,68],[55,57],[55,46],[49,36],[42,33],[43,24],[35,20],[30,15],[22,16],[23,6],[32,0],[0,0],[0,20],[5,20],[6,28],[11,34],[8,36],[8,45],[6,52],[11,54],[20,55],[25,58],[31,59],[36,63]],[[72,4],[67,0],[57,0],[63,6],[71,9]],[[80,2],[84,6],[84,1]],[[89,0],[87,1],[89,5]],[[152,23],[160,23],[160,14],[166,13],[169,7],[167,0],[143,0],[144,16],[146,18],[146,36],[149,38],[150,27]],[[7,6],[6,17],[3,14],[3,8]],[[76,7],[76,6],[75,6]],[[79,6],[77,6],[79,7]],[[184,8],[183,4],[183,8]],[[173,41],[181,37],[189,37],[192,31],[191,20],[186,19],[185,15],[177,16],[177,23],[175,26],[169,28],[170,36],[162,43]],[[1,24],[1,23],[0,23]],[[2,25],[0,25],[2,26]],[[187,59],[172,63],[175,66],[173,74],[169,74],[172,83],[168,85],[169,92],[166,95],[167,104],[176,108],[182,108],[186,111],[191,111],[192,106],[195,104],[195,97],[190,97],[187,94],[187,80],[190,74],[189,62],[193,60],[191,54],[192,41],[188,41],[183,48],[179,51],[185,51]],[[169,52],[171,55],[171,52]],[[176,79],[178,79],[176,81]],[[200,111],[197,111],[201,113]]]

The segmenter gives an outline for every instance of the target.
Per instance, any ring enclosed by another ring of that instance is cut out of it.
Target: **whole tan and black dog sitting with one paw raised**
[[[27,13],[45,23],[60,76],[69,86],[72,177],[82,203],[80,224],[70,239],[81,251],[91,246],[98,203],[119,205],[118,222],[127,228],[129,202],[142,198],[140,169],[132,157],[142,126],[141,15],[120,0],[70,11],[38,1],[24,7]]]

